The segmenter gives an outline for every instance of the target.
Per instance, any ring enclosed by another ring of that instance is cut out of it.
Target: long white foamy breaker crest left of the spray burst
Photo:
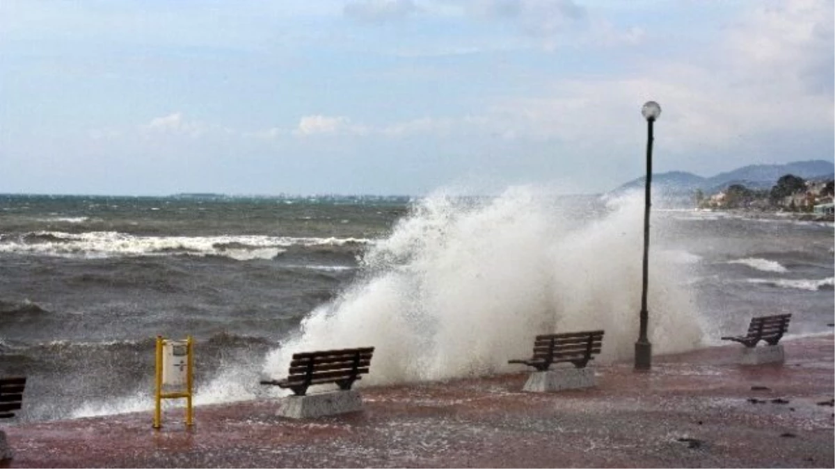
[[[235,260],[272,259],[286,248],[365,245],[357,238],[291,238],[285,236],[135,236],[114,231],[65,233],[41,231],[38,242],[3,240],[0,252],[73,258],[136,257],[144,255],[219,255]]]

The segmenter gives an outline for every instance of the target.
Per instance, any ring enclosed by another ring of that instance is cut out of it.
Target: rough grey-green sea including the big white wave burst
[[[592,327],[629,361],[642,197],[0,195],[0,376],[28,376],[17,421],[50,421],[150,418],[157,335],[193,337],[198,408],[281,396],[259,381],[304,350],[375,346],[362,386],[522,371],[534,335]],[[658,205],[656,355],[752,315],[832,331],[835,225]]]

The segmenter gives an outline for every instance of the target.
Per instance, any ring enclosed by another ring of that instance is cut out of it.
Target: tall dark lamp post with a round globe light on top
[[[640,292],[640,333],[635,342],[635,370],[649,370],[652,367],[652,344],[646,336],[650,313],[646,310],[646,290],[650,270],[650,184],[652,184],[652,125],[661,114],[661,107],[655,101],[648,101],[640,109],[646,119],[646,181],[644,187],[644,284]]]

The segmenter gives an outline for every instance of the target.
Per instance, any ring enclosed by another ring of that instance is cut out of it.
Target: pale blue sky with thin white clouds
[[[599,193],[833,159],[833,0],[0,0],[0,193]]]

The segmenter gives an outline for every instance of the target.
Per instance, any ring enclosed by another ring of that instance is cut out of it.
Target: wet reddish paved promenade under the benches
[[[835,335],[785,347],[784,366],[736,366],[739,345],[598,366],[584,391],[523,393],[527,373],[369,387],[365,411],[313,421],[264,399],[195,408],[190,431],[181,409],[161,431],[149,412],[20,424],[8,466],[835,467]]]

